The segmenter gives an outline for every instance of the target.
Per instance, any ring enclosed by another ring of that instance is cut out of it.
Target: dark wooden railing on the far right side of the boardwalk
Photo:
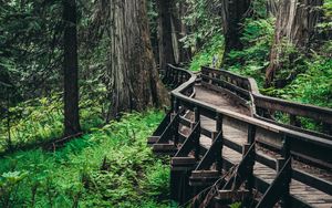
[[[284,101],[281,98],[260,94],[253,79],[243,77],[225,70],[201,67],[203,84],[206,86],[227,92],[247,105],[253,117],[278,124],[299,132],[331,138],[332,135],[332,110]],[[278,122],[276,116],[283,117],[288,123]],[[320,126],[321,131],[308,129],[301,124],[301,118],[307,118],[313,125]]]

